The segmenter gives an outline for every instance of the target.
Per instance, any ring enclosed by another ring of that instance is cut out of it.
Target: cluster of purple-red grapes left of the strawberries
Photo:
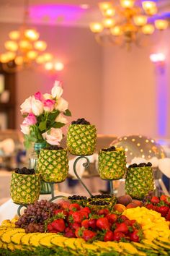
[[[58,209],[58,205],[54,202],[48,202],[48,200],[37,201],[28,205],[27,209],[24,210],[24,214],[15,223],[15,226],[25,229],[26,233],[43,232],[45,221],[53,217],[56,209]]]

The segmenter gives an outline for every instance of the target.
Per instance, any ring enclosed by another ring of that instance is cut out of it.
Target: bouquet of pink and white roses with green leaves
[[[30,148],[32,143],[60,144],[63,138],[61,127],[68,122],[64,116],[71,116],[68,102],[61,97],[62,94],[61,82],[55,81],[51,94],[37,92],[22,103],[24,121],[21,131],[26,148]]]

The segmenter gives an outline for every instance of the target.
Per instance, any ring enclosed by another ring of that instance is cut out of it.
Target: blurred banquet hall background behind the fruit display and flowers
[[[91,192],[109,192],[97,156],[120,145],[128,165],[152,163],[156,195],[169,195],[170,1],[146,2],[0,1],[0,205],[10,199],[14,168],[30,168],[20,106],[57,81],[71,112],[61,146],[72,121],[84,118],[97,129],[89,166],[77,164]],[[55,189],[86,195],[73,172],[76,158],[69,154],[68,177]],[[125,179],[113,186],[121,195]]]

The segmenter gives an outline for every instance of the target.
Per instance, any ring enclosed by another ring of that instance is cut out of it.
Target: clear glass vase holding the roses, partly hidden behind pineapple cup
[[[35,172],[37,169],[37,160],[40,154],[40,150],[46,147],[46,142],[35,143],[34,150],[30,155],[30,168],[34,168]],[[48,182],[40,182],[40,195],[51,194],[51,185]]]

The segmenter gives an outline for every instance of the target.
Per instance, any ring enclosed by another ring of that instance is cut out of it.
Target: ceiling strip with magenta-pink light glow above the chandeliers
[[[28,1],[28,0],[25,0]],[[30,23],[45,25],[89,26],[102,17],[97,3],[101,0],[30,0]],[[115,0],[114,3],[119,0]],[[140,2],[140,0],[137,0]],[[81,4],[88,4],[83,9]],[[158,9],[170,17],[170,0],[157,0]],[[22,23],[24,0],[0,0],[0,22]]]

